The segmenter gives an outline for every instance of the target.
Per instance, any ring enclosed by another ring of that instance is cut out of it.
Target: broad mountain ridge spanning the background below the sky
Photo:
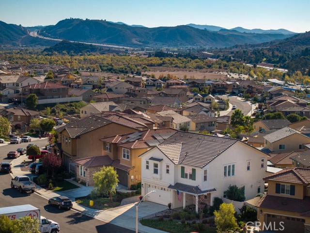
[[[120,46],[153,47],[230,47],[235,44],[262,43],[288,37],[284,34],[222,33],[199,30],[190,26],[132,27],[105,20],[64,19],[47,26],[40,35],[72,41],[113,44]]]

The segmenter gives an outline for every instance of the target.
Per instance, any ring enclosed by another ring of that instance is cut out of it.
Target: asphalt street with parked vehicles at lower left
[[[35,143],[41,148],[47,144],[47,140],[31,141],[31,143]],[[27,145],[28,143],[1,146],[0,161],[10,162],[11,160],[7,159],[7,152],[20,147],[26,148]],[[27,161],[26,155],[22,156]],[[49,206],[47,200],[36,193],[20,194],[17,189],[10,187],[11,179],[10,174],[0,173],[0,207],[31,204],[41,210],[42,216],[58,222],[60,232],[63,233],[134,233],[134,231],[94,219],[74,210],[58,210],[55,206]]]

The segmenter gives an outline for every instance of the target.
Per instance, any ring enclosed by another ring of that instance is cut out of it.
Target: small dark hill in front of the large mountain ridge
[[[96,52],[97,50],[98,50],[97,47],[93,45],[84,43],[73,43],[67,40],[63,40],[50,48],[46,48],[45,50],[43,50],[43,52],[48,53],[58,52],[62,54],[63,51],[66,51],[67,54],[70,54],[71,51],[73,51],[73,53],[75,54],[81,54],[81,53],[84,54],[88,52]]]

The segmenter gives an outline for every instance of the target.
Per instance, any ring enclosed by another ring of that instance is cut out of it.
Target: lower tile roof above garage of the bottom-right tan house
[[[310,216],[310,197],[295,199],[265,194],[258,201],[256,206],[260,208],[297,212],[301,213],[303,216]]]

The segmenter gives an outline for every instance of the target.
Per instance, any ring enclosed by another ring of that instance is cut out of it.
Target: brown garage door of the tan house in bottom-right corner
[[[283,222],[280,224],[280,222]],[[272,232],[281,232],[281,233],[304,233],[305,232],[305,219],[297,217],[287,217],[280,215],[269,215],[266,214],[266,225],[269,226],[269,230]],[[272,229],[270,227],[272,226]],[[283,230],[284,227],[284,230]],[[282,231],[280,231],[282,230]]]

